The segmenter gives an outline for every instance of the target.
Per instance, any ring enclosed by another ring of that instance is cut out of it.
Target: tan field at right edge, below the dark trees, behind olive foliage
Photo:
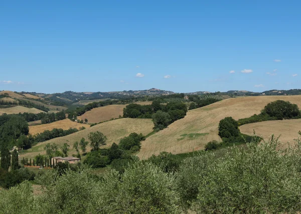
[[[241,125],[240,131],[245,134],[252,135],[253,129],[258,136],[264,140],[274,134],[276,137],[280,136],[279,140],[282,143],[293,142],[293,139],[298,138],[298,131],[301,130],[301,119],[285,119],[249,123]]]

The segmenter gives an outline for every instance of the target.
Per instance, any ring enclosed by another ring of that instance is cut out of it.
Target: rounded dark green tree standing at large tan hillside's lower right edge
[[[240,131],[238,129],[238,123],[231,116],[225,117],[224,119],[220,120],[218,131],[218,135],[222,138],[236,137],[240,134]]]

